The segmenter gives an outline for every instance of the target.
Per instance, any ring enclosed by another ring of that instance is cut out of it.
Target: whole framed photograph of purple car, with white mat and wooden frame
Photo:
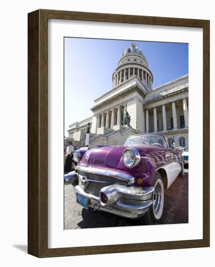
[[[28,14],[28,252],[210,246],[209,20]]]

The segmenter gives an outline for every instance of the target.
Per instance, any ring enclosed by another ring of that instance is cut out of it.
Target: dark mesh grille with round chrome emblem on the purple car
[[[96,175],[96,174],[91,174],[91,173],[86,173],[83,171],[78,171],[79,174],[79,185],[83,187],[82,185],[82,177],[87,177],[87,181],[89,182],[87,187],[83,190],[87,194],[91,194],[94,196],[99,196],[99,192],[101,188],[112,185],[112,184],[123,184],[123,185],[128,185],[128,182],[119,178],[115,177],[109,177],[109,176],[101,176],[101,175]],[[94,181],[90,181],[94,180]],[[98,182],[96,182],[98,181]]]

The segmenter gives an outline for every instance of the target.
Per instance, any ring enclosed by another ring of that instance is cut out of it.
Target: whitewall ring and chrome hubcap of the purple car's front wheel
[[[158,179],[154,185],[153,192],[153,213],[156,219],[160,219],[164,208],[164,185],[161,179]]]

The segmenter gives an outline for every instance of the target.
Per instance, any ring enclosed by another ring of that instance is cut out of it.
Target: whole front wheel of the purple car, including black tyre
[[[157,173],[154,181],[152,204],[146,214],[140,218],[145,224],[158,224],[164,211],[164,182],[160,173]]]

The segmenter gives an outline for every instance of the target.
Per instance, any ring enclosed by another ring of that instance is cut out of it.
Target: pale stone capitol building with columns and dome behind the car
[[[94,100],[92,117],[69,125],[68,137],[75,147],[85,145],[90,123],[89,147],[122,145],[138,133],[159,132],[168,144],[188,147],[188,75],[152,89],[153,73],[134,42],[124,50],[112,75],[113,88]],[[123,125],[127,110],[130,126]]]

